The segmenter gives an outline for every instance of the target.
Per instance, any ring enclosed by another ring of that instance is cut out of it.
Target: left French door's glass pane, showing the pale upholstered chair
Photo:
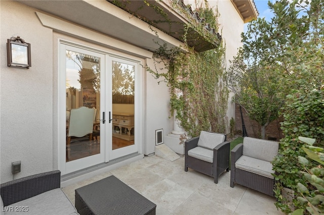
[[[98,153],[100,58],[66,50],[66,162]]]

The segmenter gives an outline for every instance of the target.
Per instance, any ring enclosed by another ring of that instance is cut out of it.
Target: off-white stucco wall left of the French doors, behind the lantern
[[[35,25],[30,8],[0,1],[0,173],[13,179],[11,163],[21,160],[15,178],[53,169],[52,30]],[[7,67],[6,41],[19,35],[31,44],[31,67]]]

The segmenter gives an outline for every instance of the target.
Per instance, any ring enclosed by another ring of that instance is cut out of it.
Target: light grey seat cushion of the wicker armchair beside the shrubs
[[[272,164],[270,162],[266,162],[265,160],[242,155],[236,161],[235,168],[245,170],[250,173],[255,173],[270,179],[274,178],[271,175],[271,173],[274,173],[274,170],[272,170]]]

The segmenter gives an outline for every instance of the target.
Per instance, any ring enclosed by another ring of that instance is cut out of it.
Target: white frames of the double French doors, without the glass
[[[64,44],[64,45],[68,45],[68,46],[73,46],[73,47],[76,47],[76,48],[81,48],[82,50],[89,50],[91,52],[96,52],[98,53],[99,55],[104,55],[105,57],[102,59],[102,61],[105,62],[105,65],[104,67],[101,67],[101,68],[104,68],[105,69],[105,72],[101,73],[101,80],[105,80],[107,81],[108,79],[108,75],[109,70],[107,70],[108,68],[108,63],[109,62],[108,60],[111,59],[111,58],[116,58],[116,59],[124,59],[124,60],[127,60],[127,61],[130,61],[130,62],[134,62],[134,63],[137,63],[137,73],[136,73],[136,76],[135,76],[135,102],[136,102],[136,105],[134,105],[134,108],[135,108],[135,142],[137,143],[136,144],[136,150],[134,152],[138,152],[138,153],[142,153],[142,141],[143,140],[143,135],[142,135],[142,132],[143,131],[143,124],[142,124],[142,102],[143,102],[143,94],[142,94],[142,78],[144,77],[141,73],[141,69],[142,67],[140,65],[145,65],[144,64],[144,60],[135,60],[135,59],[130,59],[130,58],[125,58],[125,57],[121,57],[120,54],[116,55],[114,53],[111,53],[111,52],[107,52],[107,51],[104,51],[104,50],[100,50],[100,49],[97,49],[97,48],[92,48],[92,47],[89,47],[89,46],[85,46],[85,45],[80,45],[80,44],[77,44],[75,42],[71,42],[71,41],[68,41],[68,40],[65,40],[65,39],[59,39],[58,41],[58,169],[61,171],[61,174],[62,175],[65,175],[67,173],[69,173],[66,169],[66,161],[65,161],[65,151],[66,151],[66,146],[65,146],[65,143],[66,143],[66,136],[65,136],[65,130],[66,130],[66,125],[65,125],[65,122],[66,122],[66,110],[65,110],[65,106],[66,106],[66,99],[65,99],[65,82],[66,82],[66,65],[60,65],[60,62],[62,62],[62,59],[64,57],[65,59],[65,48],[63,48],[63,46],[61,46],[61,44]],[[66,46],[65,46],[66,47]],[[61,49],[64,49],[64,50],[61,50]],[[63,54],[63,57],[61,56],[62,55],[62,51],[64,52]],[[64,61],[65,62],[65,61]],[[64,67],[64,69],[63,69]],[[64,72],[62,72],[64,71]],[[110,72],[111,74],[111,72]],[[110,76],[110,80],[111,80],[111,76]],[[106,83],[109,83],[109,82],[106,82]],[[106,87],[105,89],[103,89],[104,87]],[[110,87],[110,88],[109,88]],[[107,91],[111,93],[111,84],[109,84],[109,86],[103,86],[103,88],[101,89],[102,91]],[[111,96],[110,96],[111,97]],[[100,100],[105,100],[105,99],[100,99]],[[110,98],[111,100],[111,98]],[[105,120],[106,120],[106,123],[105,125],[106,126],[103,126],[102,124],[102,121],[100,123],[100,126],[102,126],[102,128],[104,128],[105,130],[105,138],[110,138],[111,139],[111,135],[112,135],[112,130],[111,130],[111,124],[108,123],[109,119],[109,111],[111,112],[112,111],[112,105],[111,105],[112,102],[109,102],[107,103],[107,101],[104,102],[101,102],[101,108],[100,108],[100,118],[102,119],[102,112],[105,111]],[[64,122],[64,123],[63,123]],[[103,135],[104,136],[104,135]],[[117,158],[119,156],[119,154],[117,155],[114,155],[112,153],[112,147],[111,147],[111,143],[110,144],[106,144],[106,142],[108,140],[105,140],[104,138],[101,138],[102,140],[102,143],[105,143],[105,144],[101,144],[104,146],[104,149],[100,151],[103,152],[104,151],[104,161],[103,162],[109,162],[109,160],[113,159],[113,158]],[[109,142],[111,142],[112,140],[110,140]],[[144,141],[144,140],[143,140]],[[64,143],[64,144],[63,144]],[[111,149],[111,150],[109,150]],[[126,149],[125,149],[126,150]],[[123,150],[120,150],[120,151],[123,151]],[[124,151],[121,152],[121,153],[125,153]],[[133,152],[131,152],[133,153]],[[87,157],[86,157],[87,158]],[[92,156],[88,157],[88,159],[85,159],[85,162],[92,162]],[[73,164],[74,162],[71,161],[69,162],[71,164]],[[77,163],[77,162],[75,162]],[[73,164],[74,165],[74,164]],[[96,164],[94,164],[96,165]],[[79,166],[79,165],[75,165],[77,168],[79,169],[85,169],[87,167],[85,166]]]

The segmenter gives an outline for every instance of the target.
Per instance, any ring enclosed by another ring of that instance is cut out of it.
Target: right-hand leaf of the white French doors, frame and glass
[[[138,152],[136,123],[138,121],[137,94],[139,91],[139,63],[114,56],[107,57],[112,93],[112,141],[108,141],[111,159]]]

